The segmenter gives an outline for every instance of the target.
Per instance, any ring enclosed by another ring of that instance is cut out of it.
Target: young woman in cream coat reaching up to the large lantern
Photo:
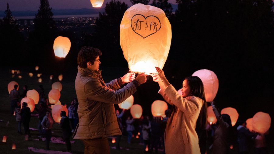
[[[163,70],[155,68],[159,75],[153,75],[153,81],[159,83],[159,93],[173,106],[165,130],[166,153],[200,154],[195,128],[206,127],[207,109],[201,79],[197,76],[185,78],[180,96],[168,82]]]

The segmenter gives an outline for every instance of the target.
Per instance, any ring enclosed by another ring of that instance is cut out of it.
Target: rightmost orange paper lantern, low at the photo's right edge
[[[264,134],[269,130],[271,124],[271,117],[264,112],[256,113],[252,118],[252,128],[255,132]]]

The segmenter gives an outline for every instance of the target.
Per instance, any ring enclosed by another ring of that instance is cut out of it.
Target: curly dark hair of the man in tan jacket
[[[86,63],[90,61],[93,65],[94,61],[96,60],[97,56],[101,56],[102,52],[94,47],[82,47],[78,53],[77,57],[77,64],[81,68],[87,68]]]

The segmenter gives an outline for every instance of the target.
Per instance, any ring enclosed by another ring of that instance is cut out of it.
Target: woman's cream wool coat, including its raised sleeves
[[[172,85],[160,89],[159,93],[170,105],[174,105],[165,130],[166,153],[200,154],[195,127],[203,100],[195,96],[184,99]]]

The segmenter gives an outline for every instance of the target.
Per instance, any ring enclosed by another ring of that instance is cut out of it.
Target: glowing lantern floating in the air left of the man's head
[[[53,43],[53,50],[55,56],[65,58],[69,52],[70,45],[70,40],[67,37],[56,37]]]

